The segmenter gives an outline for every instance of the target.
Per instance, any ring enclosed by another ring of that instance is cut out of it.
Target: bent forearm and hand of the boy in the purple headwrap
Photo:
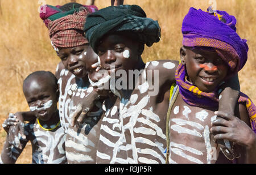
[[[239,112],[241,119],[227,112],[216,112],[220,117],[212,122],[211,132],[216,140],[226,139],[242,146],[245,150],[245,163],[255,164],[256,134],[250,128],[249,116],[244,105],[239,105]],[[244,157],[243,152],[240,154]]]

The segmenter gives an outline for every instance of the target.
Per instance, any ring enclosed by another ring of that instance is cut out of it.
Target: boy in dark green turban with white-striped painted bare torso
[[[158,22],[146,18],[136,5],[107,7],[88,15],[85,33],[118,97],[104,106],[97,163],[165,163],[166,114],[179,62],[143,63],[144,44],[151,46],[160,39]],[[117,87],[121,84],[126,88]]]

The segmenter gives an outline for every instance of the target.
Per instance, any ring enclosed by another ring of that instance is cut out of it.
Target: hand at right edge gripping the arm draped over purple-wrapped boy
[[[255,133],[245,122],[226,112],[218,111],[215,114],[220,117],[212,122],[210,131],[216,140],[229,140],[247,149],[255,147]]]

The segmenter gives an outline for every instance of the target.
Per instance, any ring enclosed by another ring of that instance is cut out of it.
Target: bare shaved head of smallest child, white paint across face
[[[49,71],[36,71],[23,82],[23,93],[36,118],[48,121],[57,112],[59,90],[57,79]]]

